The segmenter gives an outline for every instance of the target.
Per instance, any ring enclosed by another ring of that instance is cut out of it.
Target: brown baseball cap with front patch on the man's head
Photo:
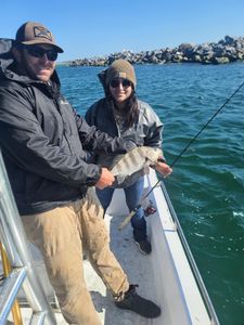
[[[54,40],[52,32],[40,23],[27,22],[23,24],[16,32],[15,41],[25,46],[50,44],[59,53],[63,53]]]

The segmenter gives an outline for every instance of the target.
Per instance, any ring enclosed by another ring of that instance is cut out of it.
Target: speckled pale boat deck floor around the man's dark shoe
[[[128,224],[123,231],[118,225],[125,217],[111,217],[106,214],[105,221],[111,233],[111,249],[115,253],[131,284],[139,284],[137,291],[153,299],[153,270],[151,257],[142,255],[132,239],[131,225]],[[151,320],[124,311],[115,307],[110,292],[103,282],[97,275],[89,261],[85,261],[85,276],[91,292],[97,311],[104,325],[150,325]]]

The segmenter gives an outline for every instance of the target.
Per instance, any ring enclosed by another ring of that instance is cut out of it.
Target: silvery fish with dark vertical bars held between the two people
[[[140,177],[149,173],[149,167],[163,157],[163,152],[156,147],[139,146],[114,162],[111,172],[115,177],[113,187],[132,185]]]

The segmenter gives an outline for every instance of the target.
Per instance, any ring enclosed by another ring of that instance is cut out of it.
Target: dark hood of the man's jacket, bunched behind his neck
[[[28,76],[22,76],[14,72],[13,44],[13,39],[0,38],[0,80],[10,79],[24,83],[42,83],[42,81],[33,80]],[[52,75],[51,80],[56,84],[56,89],[60,88],[60,79],[56,72]]]

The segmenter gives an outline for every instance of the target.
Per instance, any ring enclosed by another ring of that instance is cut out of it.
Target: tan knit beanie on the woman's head
[[[134,69],[132,65],[127,60],[116,60],[112,63],[112,65],[106,70],[106,79],[105,82],[108,84],[111,80],[116,78],[128,79],[133,83],[133,88],[136,89],[137,79],[134,75]]]

